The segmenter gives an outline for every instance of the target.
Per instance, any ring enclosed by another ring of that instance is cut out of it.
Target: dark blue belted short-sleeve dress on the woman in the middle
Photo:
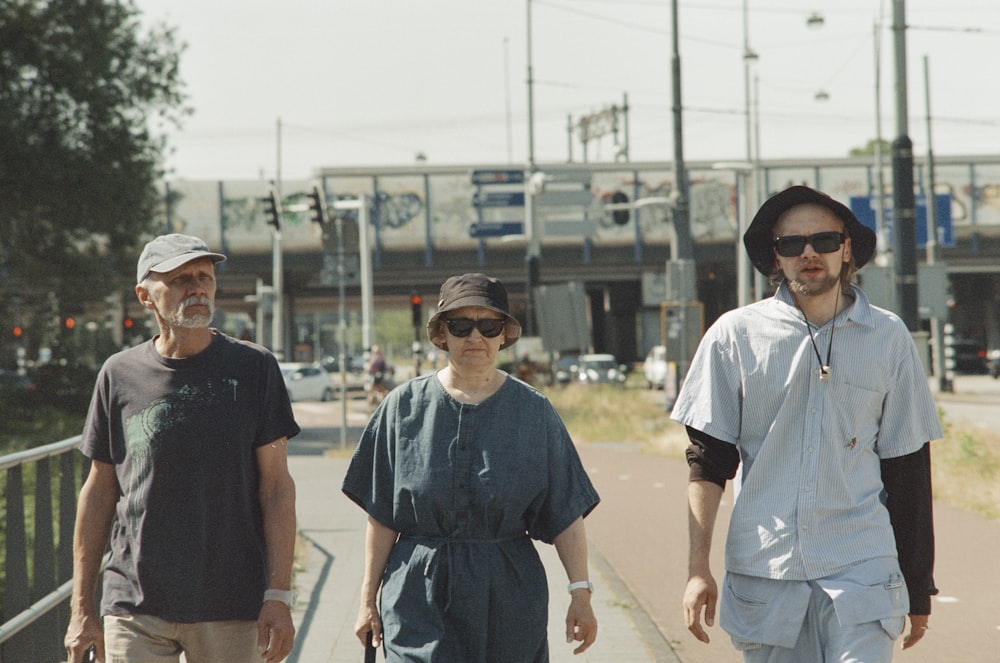
[[[389,393],[343,490],[400,533],[382,582],[387,661],[547,661],[551,543],[599,501],[549,401],[508,377],[460,403],[436,376]]]

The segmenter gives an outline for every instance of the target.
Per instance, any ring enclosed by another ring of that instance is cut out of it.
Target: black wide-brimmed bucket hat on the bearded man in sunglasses
[[[750,262],[758,272],[770,276],[774,269],[774,224],[778,217],[796,205],[821,205],[844,222],[844,231],[851,238],[854,264],[861,269],[875,255],[875,233],[858,221],[854,212],[830,196],[807,186],[793,186],[769,198],[753,217],[743,235],[743,245]]]

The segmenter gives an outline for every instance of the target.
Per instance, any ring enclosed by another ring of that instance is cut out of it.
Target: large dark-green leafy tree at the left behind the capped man
[[[72,310],[129,283],[159,205],[164,131],[188,112],[182,51],[131,0],[0,0],[4,319],[48,293]]]

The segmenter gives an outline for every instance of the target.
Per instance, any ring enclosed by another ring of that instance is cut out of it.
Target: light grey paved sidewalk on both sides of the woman
[[[340,492],[348,456],[335,451],[338,433],[312,425],[310,417],[302,416],[298,407],[296,415],[303,434],[290,444],[289,467],[297,488],[302,542],[295,574],[296,646],[287,660],[289,663],[361,661],[364,652],[354,636],[354,621],[362,578],[365,516]],[[363,423],[363,415],[352,414],[350,439],[357,439]],[[593,647],[574,656],[564,635],[569,606],[566,574],[552,546],[536,545],[549,578],[549,647],[553,662],[678,661],[635,597],[593,546],[590,578],[595,586],[593,605],[599,633]],[[381,652],[378,660],[383,660]]]

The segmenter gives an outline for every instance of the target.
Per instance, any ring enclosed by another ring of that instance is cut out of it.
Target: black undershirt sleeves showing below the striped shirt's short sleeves
[[[687,427],[685,455],[690,481],[710,481],[723,489],[736,476],[736,446]],[[881,461],[886,508],[896,537],[899,567],[910,595],[910,614],[929,615],[934,586],[934,514],[930,443],[920,451]]]

